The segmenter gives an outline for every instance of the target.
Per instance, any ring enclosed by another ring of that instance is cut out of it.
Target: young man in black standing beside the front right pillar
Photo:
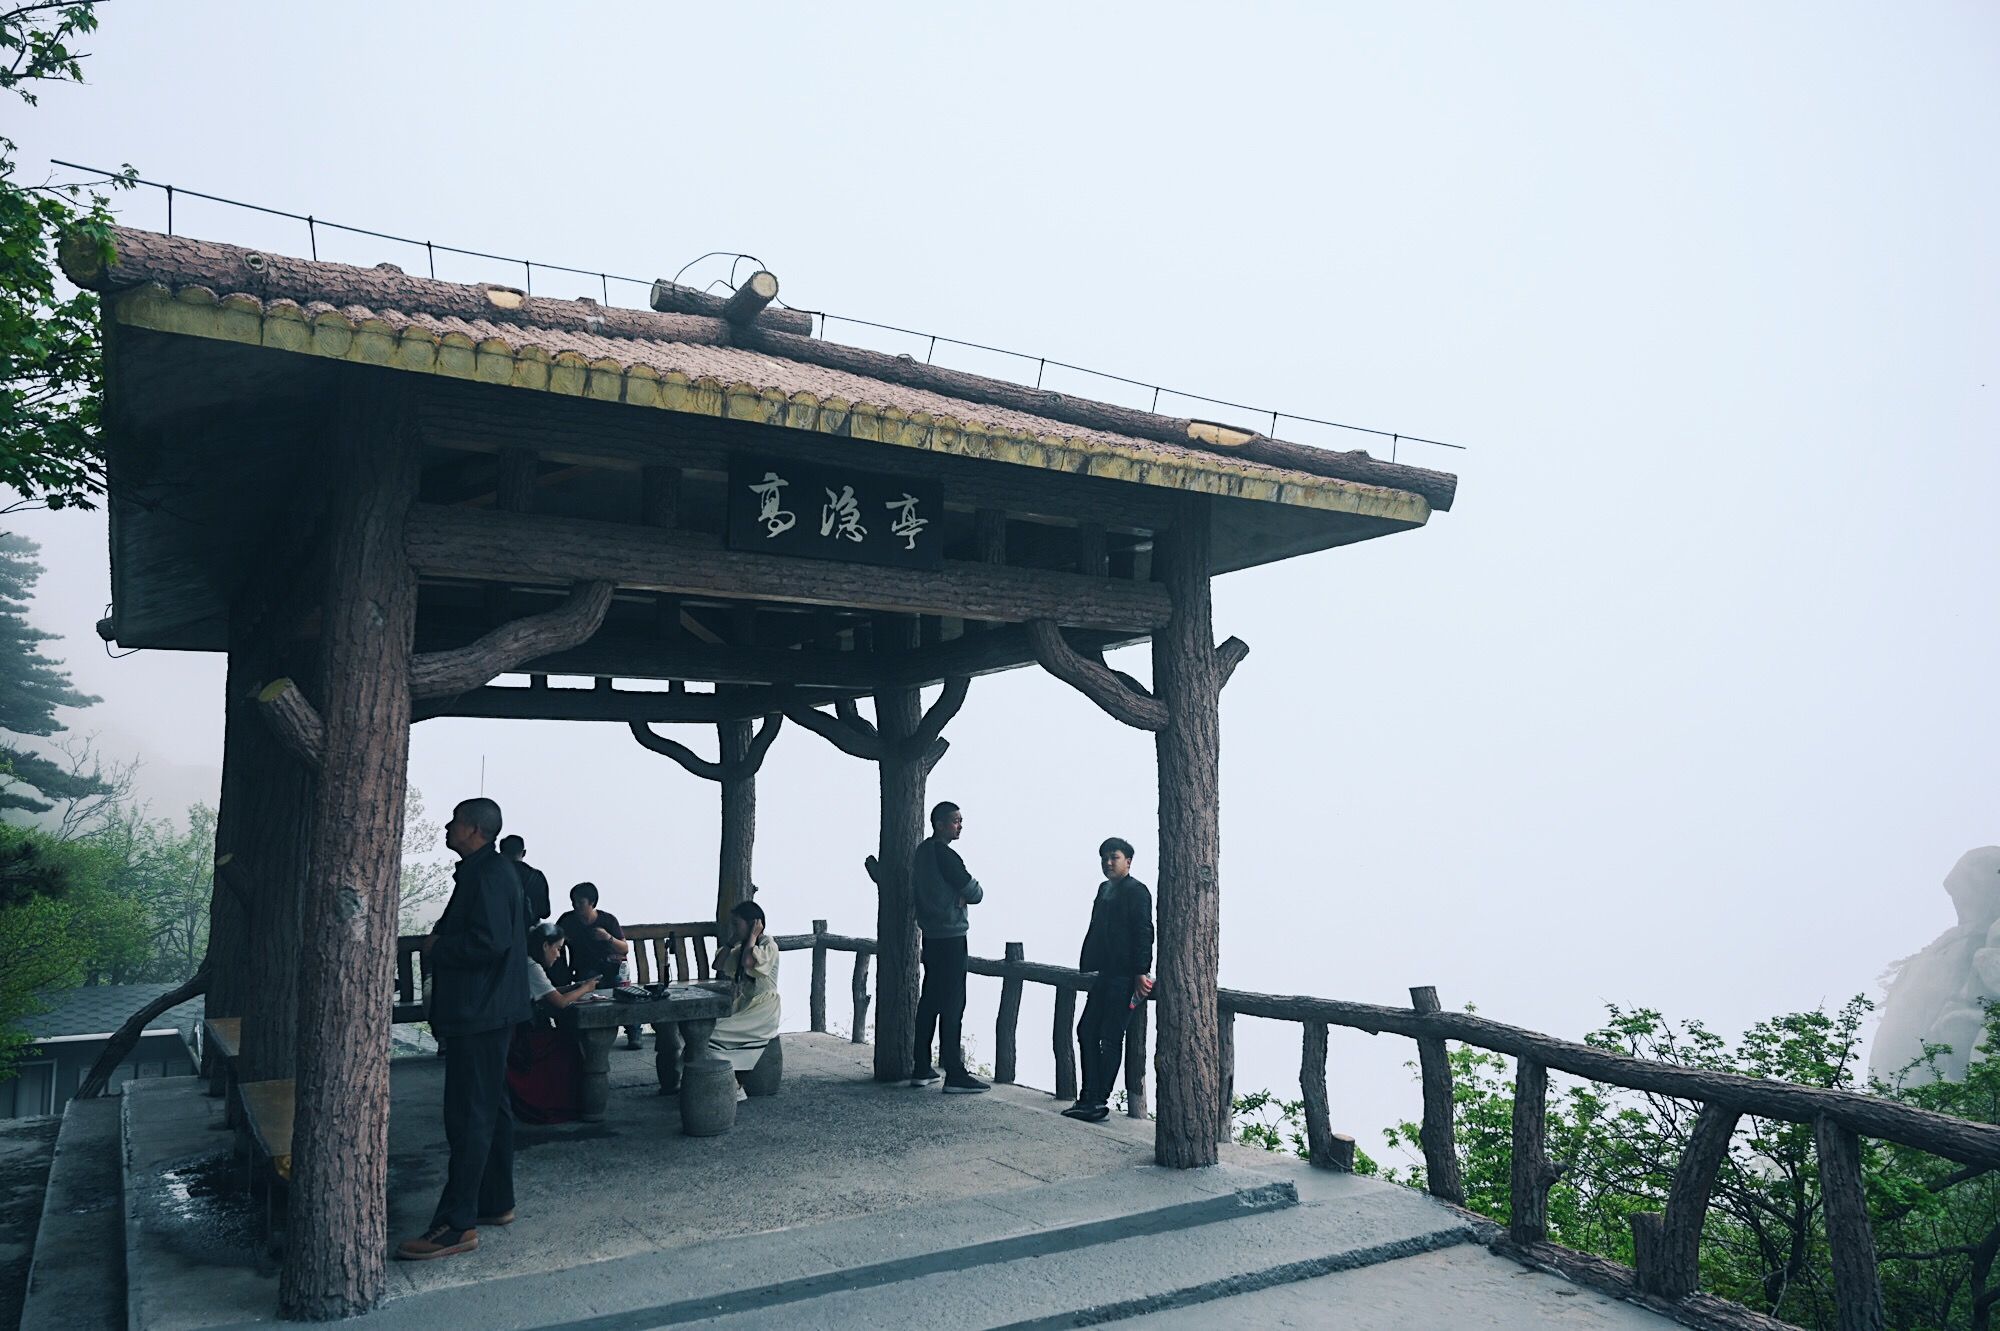
[[[1112,1083],[1124,1063],[1132,1009],[1152,993],[1152,891],[1132,877],[1132,843],[1110,837],[1098,847],[1104,881],[1090,907],[1090,931],[1078,969],[1096,971],[1076,1043],[1084,1057],[1084,1093],[1062,1113],[1086,1123],[1112,1115]]]

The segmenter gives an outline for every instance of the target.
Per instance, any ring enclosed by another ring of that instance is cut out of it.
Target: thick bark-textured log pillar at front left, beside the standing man
[[[388,1255],[388,1045],[410,755],[416,576],[406,390],[352,374],[330,454],[320,640],[324,749],[306,879],[290,1233],[280,1315],[376,1307]]]

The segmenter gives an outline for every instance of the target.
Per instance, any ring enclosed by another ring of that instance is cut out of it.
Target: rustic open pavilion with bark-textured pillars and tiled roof
[[[286,1315],[382,1295],[404,765],[438,715],[620,721],[718,781],[718,909],[784,719],[872,761],[894,1079],[926,775],[972,675],[1040,664],[1156,737],[1156,1155],[1214,1163],[1218,695],[1246,648],[1216,646],[1210,578],[1418,528],[1452,476],[830,344],[770,274],[622,310],[136,230],[64,266],[104,298],[102,634],[228,654],[206,1001],[242,1017],[244,1079],[296,1079]],[[1150,687],[1102,658],[1144,640]]]

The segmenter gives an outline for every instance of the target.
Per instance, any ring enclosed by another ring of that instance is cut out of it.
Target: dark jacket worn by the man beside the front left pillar
[[[528,1019],[528,921],[520,875],[486,845],[452,869],[452,899],[426,957],[430,1029],[476,1035]]]

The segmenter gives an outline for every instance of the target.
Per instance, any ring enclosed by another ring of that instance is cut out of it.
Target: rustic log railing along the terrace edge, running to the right
[[[826,953],[854,953],[852,1039],[864,1043],[868,1017],[868,957],[874,939],[828,933],[824,919],[812,933],[778,935],[784,951],[812,951],[812,1029],[826,1029]],[[1016,1027],[1024,983],[1056,989],[1052,1047],[1056,1053],[1056,1095],[1076,1095],[1076,995],[1092,975],[1068,965],[1028,961],[1020,943],[1006,945],[1006,957],[968,957],[974,975],[1000,979],[1000,1019],[994,1029],[994,1079],[1014,1081]],[[1410,989],[1410,1007],[1350,1003],[1344,999],[1248,993],[1220,989],[1218,1055],[1222,1065],[1222,1125],[1230,1131],[1236,1079],[1234,1017],[1296,1021],[1300,1041],[1300,1095],[1304,1099],[1310,1161],[1322,1169],[1352,1169],[1354,1141],[1332,1131],[1326,1103],[1328,1027],[1370,1035],[1408,1035],[1416,1041],[1424,1089],[1424,1121],[1418,1139],[1424,1149],[1426,1189],[1440,1201],[1464,1205],[1464,1181],[1452,1123],[1452,1073],[1446,1041],[1460,1041],[1516,1061],[1514,1075],[1514,1167],[1510,1217],[1494,1247],[1524,1261],[1558,1267],[1584,1283],[1636,1299],[1660,1311],[1708,1327],[1780,1327],[1782,1323],[1734,1303],[1696,1293],[1698,1245],[1708,1215],[1708,1195],[1728,1157],[1730,1139],[1744,1115],[1810,1123],[1820,1155],[1820,1191],[1826,1207],[1826,1235],[1832,1249],[1834,1301],[1842,1331],[1880,1331],[1882,1283],[1876,1271],[1874,1235],[1862,1191],[1860,1137],[1876,1137],[1942,1155],[1968,1167],[1964,1177],[2000,1169],[2000,1127],[1972,1123],[1946,1113],[1918,1109],[1902,1101],[1830,1091],[1790,1081],[1768,1081],[1738,1073],[1706,1071],[1678,1063],[1638,1059],[1596,1045],[1540,1035],[1516,1025],[1464,1011],[1446,1011],[1432,987]],[[1128,1113],[1146,1115],[1146,1005],[1134,1011],[1134,1031],[1126,1039]],[[1548,1241],[1548,1189],[1560,1177],[1546,1151],[1548,1073],[1562,1071],[1588,1081],[1648,1091],[1702,1105],[1688,1149],[1674,1171],[1664,1213],[1632,1217],[1636,1271],[1556,1247]]]

